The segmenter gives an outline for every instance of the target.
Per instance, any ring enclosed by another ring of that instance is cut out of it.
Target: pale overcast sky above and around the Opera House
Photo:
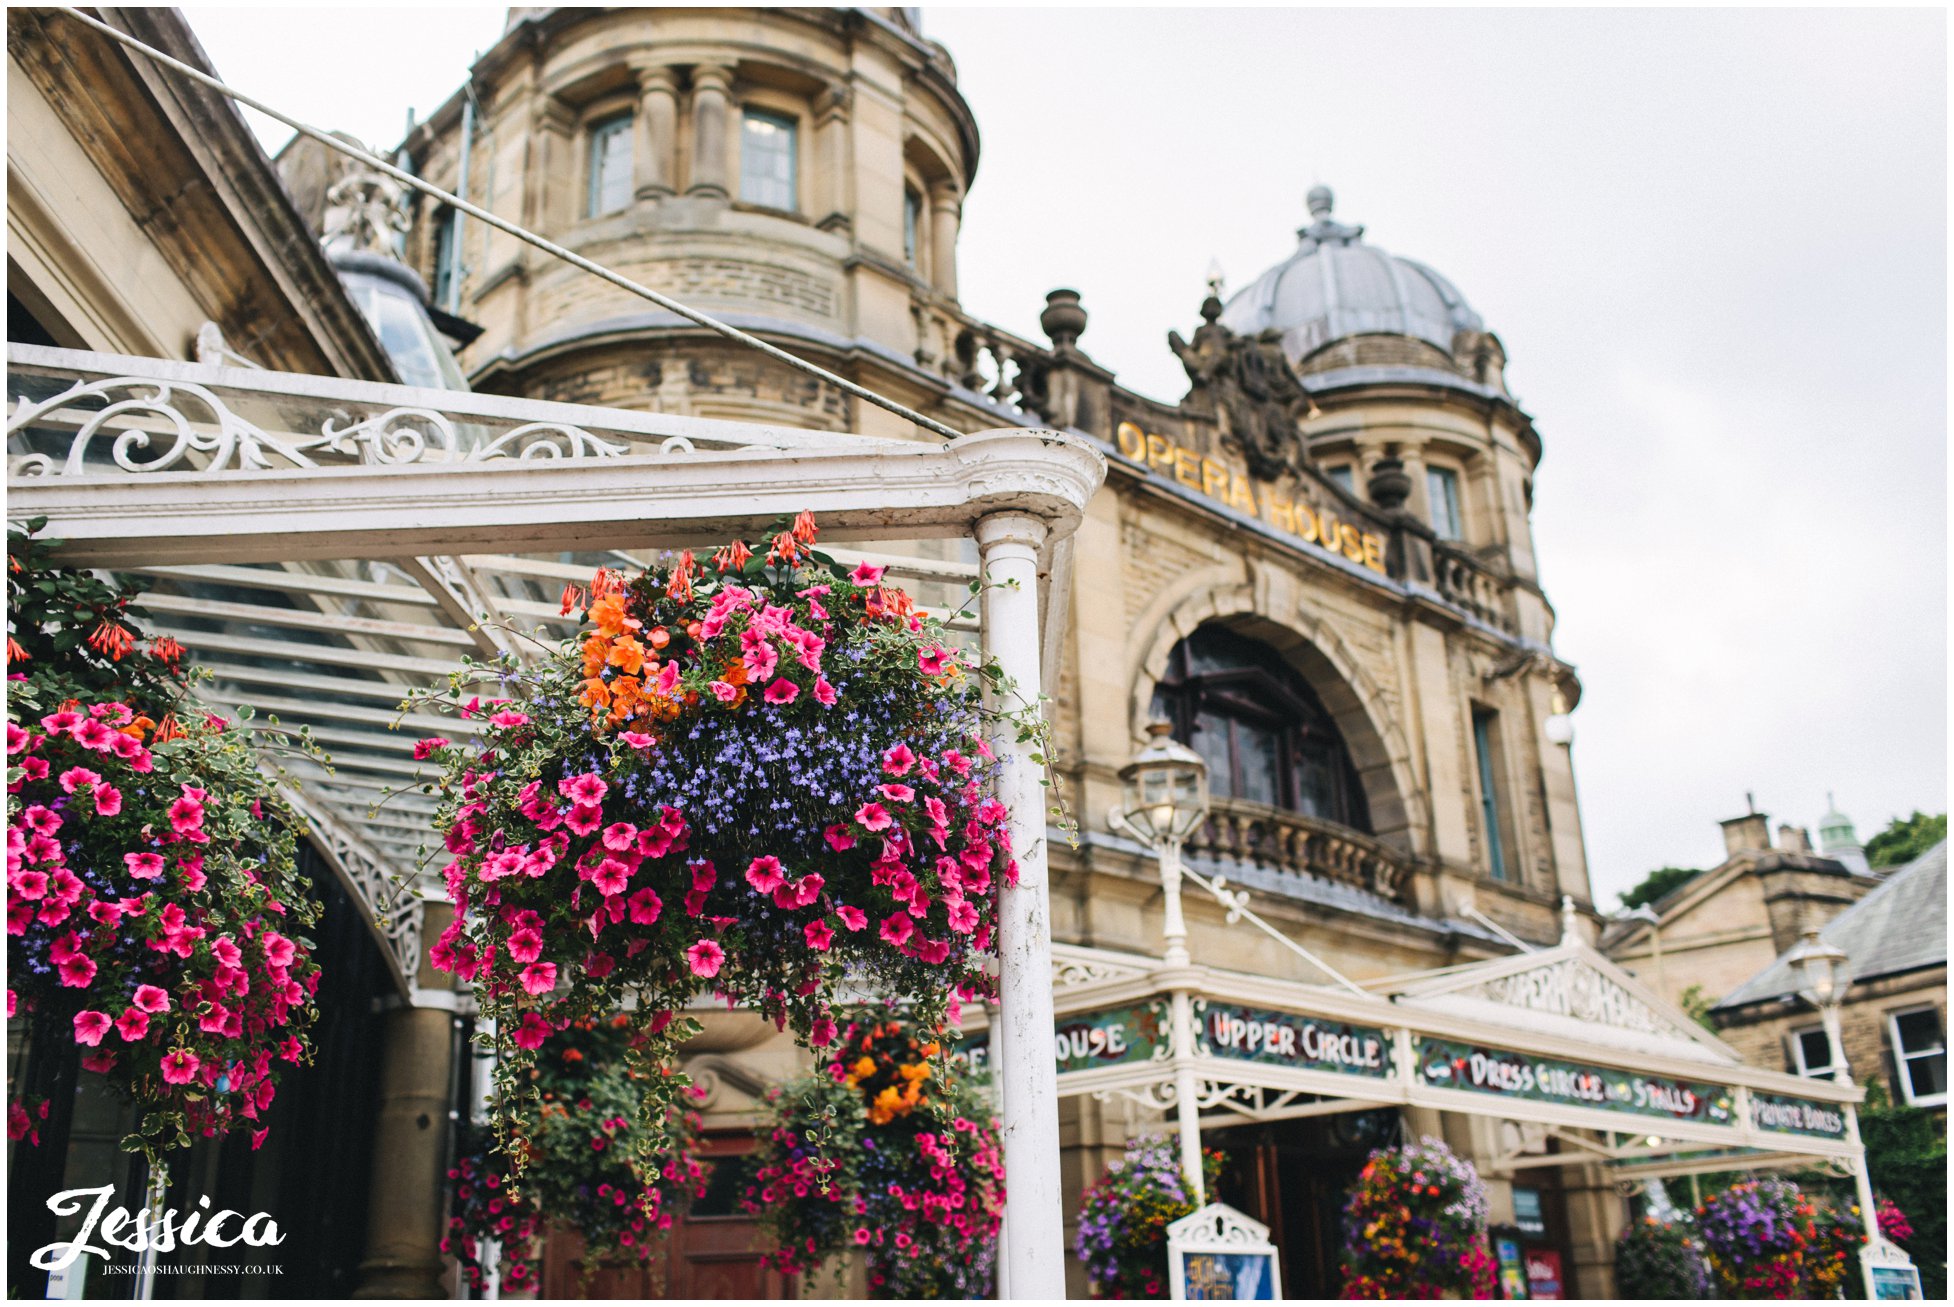
[[[399,141],[502,10],[190,8],[219,72]],[[1946,809],[1946,20],[1764,10],[926,10],[983,131],[965,307],[1178,399],[1168,328],[1303,191],[1448,275],[1546,459],[1596,899],[1745,791]],[[285,129],[262,123],[276,148]],[[1815,834],[1815,832],[1813,832]]]

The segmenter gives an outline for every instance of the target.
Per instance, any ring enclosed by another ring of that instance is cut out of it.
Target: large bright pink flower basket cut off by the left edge
[[[178,697],[182,649],[145,647],[131,592],[45,549],[10,541],[8,1018],[135,1102],[152,1166],[238,1123],[258,1147],[317,1016],[297,824],[248,735]],[[45,1116],[14,1102],[10,1137]]]

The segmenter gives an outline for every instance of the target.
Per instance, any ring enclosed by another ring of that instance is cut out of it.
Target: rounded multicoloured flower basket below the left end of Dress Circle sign
[[[1344,1207],[1344,1297],[1493,1297],[1485,1184],[1440,1139],[1378,1149]]]

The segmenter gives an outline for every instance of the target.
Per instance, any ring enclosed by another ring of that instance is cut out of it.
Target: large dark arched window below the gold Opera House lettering
[[[1217,799],[1247,799],[1370,830],[1350,750],[1309,684],[1274,649],[1221,627],[1174,645],[1153,715],[1208,760]]]

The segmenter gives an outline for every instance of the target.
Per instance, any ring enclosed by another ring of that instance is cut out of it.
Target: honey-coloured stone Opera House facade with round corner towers
[[[1551,942],[1563,897],[1593,920],[1569,750],[1548,738],[1581,686],[1536,578],[1540,434],[1464,297],[1368,244],[1329,191],[1292,260],[1225,303],[1211,287],[1170,336],[1176,401],[1090,358],[1071,291],[1049,295],[1045,342],[961,311],[977,125],[907,10],[512,10],[403,148],[430,182],[952,428],[1059,426],[1106,451],[1106,488],[1045,578],[1083,826],[1077,848],[1053,842],[1061,942],[1159,951],[1153,860],[1106,821],[1157,717],[1215,776],[1192,865],[1356,981]],[[420,205],[406,254],[483,328],[461,354],[477,389],[928,438],[440,205]],[[1190,949],[1319,979],[1208,903],[1190,903]],[[711,1018],[688,1063],[707,1125],[737,1139],[797,1057]],[[1344,1172],[1403,1127],[1387,1116],[1217,1133],[1297,1291],[1333,1291],[1325,1229]],[[1407,1116],[1495,1151],[1493,1123]],[[1061,1121],[1077,1211],[1149,1121],[1092,1100]],[[1507,1219],[1516,1186],[1546,1192],[1575,1289],[1606,1291],[1622,1207],[1594,1168],[1542,1159],[1493,1182]],[[707,1287],[688,1274],[674,1293]]]

